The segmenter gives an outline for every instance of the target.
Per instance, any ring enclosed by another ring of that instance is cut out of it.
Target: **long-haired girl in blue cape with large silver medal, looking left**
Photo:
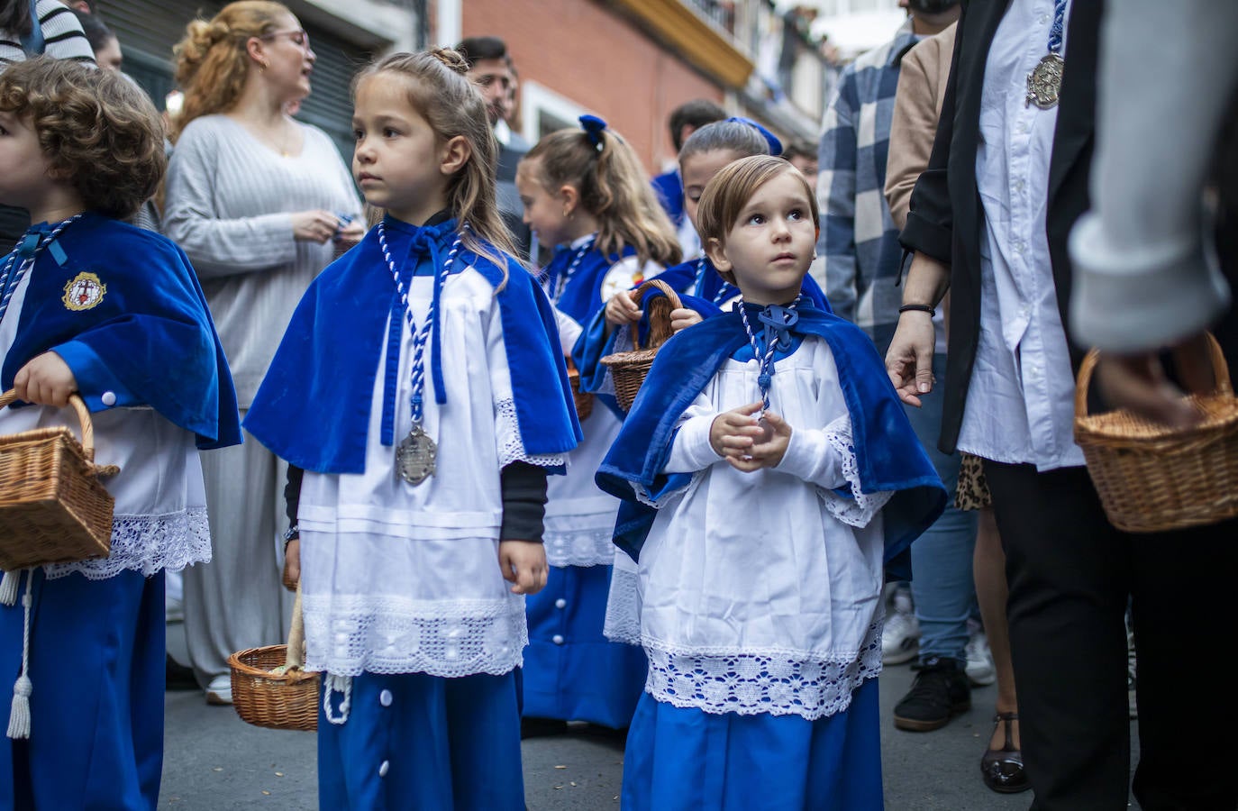
[[[323,674],[322,809],[525,807],[525,596],[579,426],[465,72],[436,50],[354,80],[353,173],[385,215],[311,285],[245,417],[305,471],[288,558]]]

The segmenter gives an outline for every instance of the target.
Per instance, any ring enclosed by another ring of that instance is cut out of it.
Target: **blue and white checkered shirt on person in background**
[[[862,327],[881,353],[894,337],[903,300],[895,286],[901,251],[885,202],[885,157],[899,63],[919,40],[909,19],[893,40],[843,69],[818,152],[817,253],[826,262],[826,295],[834,312]]]

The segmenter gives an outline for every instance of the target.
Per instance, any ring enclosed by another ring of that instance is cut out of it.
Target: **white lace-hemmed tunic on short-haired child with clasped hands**
[[[640,553],[645,690],[711,713],[846,709],[880,672],[888,493],[859,493],[851,421],[828,345],[807,338],[776,362],[771,410],[792,426],[779,468],[740,473],[709,447],[713,417],[759,399],[758,364],[729,359],[683,414],[664,498]],[[823,428],[821,426],[825,426]]]

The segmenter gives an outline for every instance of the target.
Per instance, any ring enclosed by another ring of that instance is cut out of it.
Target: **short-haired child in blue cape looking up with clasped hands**
[[[735,161],[698,224],[740,306],[662,347],[598,472],[649,656],[621,804],[880,809],[884,568],[946,492],[872,342],[801,293],[803,176]]]

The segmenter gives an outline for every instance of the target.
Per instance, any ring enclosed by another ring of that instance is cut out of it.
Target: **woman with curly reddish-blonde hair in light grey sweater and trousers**
[[[191,22],[175,53],[184,106],[165,232],[198,271],[244,415],[301,295],[360,239],[360,199],[327,135],[287,114],[314,53],[285,6],[229,4]],[[246,435],[204,457],[203,474],[214,558],[186,571],[184,630],[207,701],[230,703],[228,656],[284,639],[285,466]]]

